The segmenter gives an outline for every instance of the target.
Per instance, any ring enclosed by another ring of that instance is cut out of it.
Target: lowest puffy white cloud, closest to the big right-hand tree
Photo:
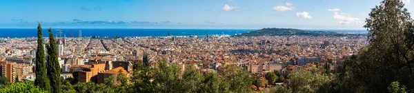
[[[346,15],[344,13],[338,14],[338,12],[334,12],[333,19],[339,21],[341,24],[361,23],[358,18],[351,17],[351,15]]]

